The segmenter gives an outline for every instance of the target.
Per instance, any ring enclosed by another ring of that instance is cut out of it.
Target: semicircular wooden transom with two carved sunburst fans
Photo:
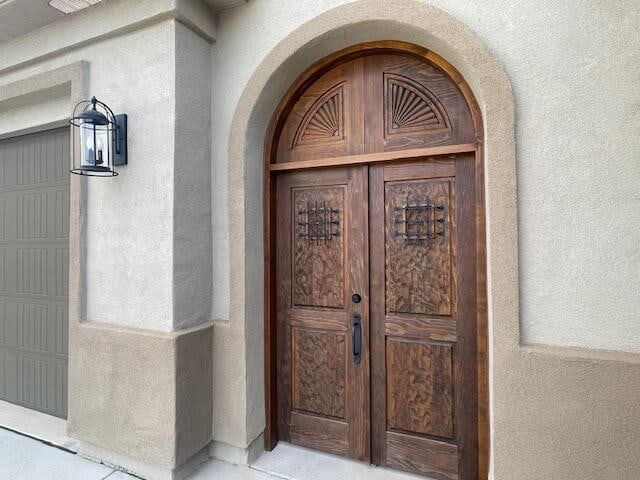
[[[475,142],[473,119],[444,72],[412,55],[359,57],[325,72],[292,105],[277,162]]]

